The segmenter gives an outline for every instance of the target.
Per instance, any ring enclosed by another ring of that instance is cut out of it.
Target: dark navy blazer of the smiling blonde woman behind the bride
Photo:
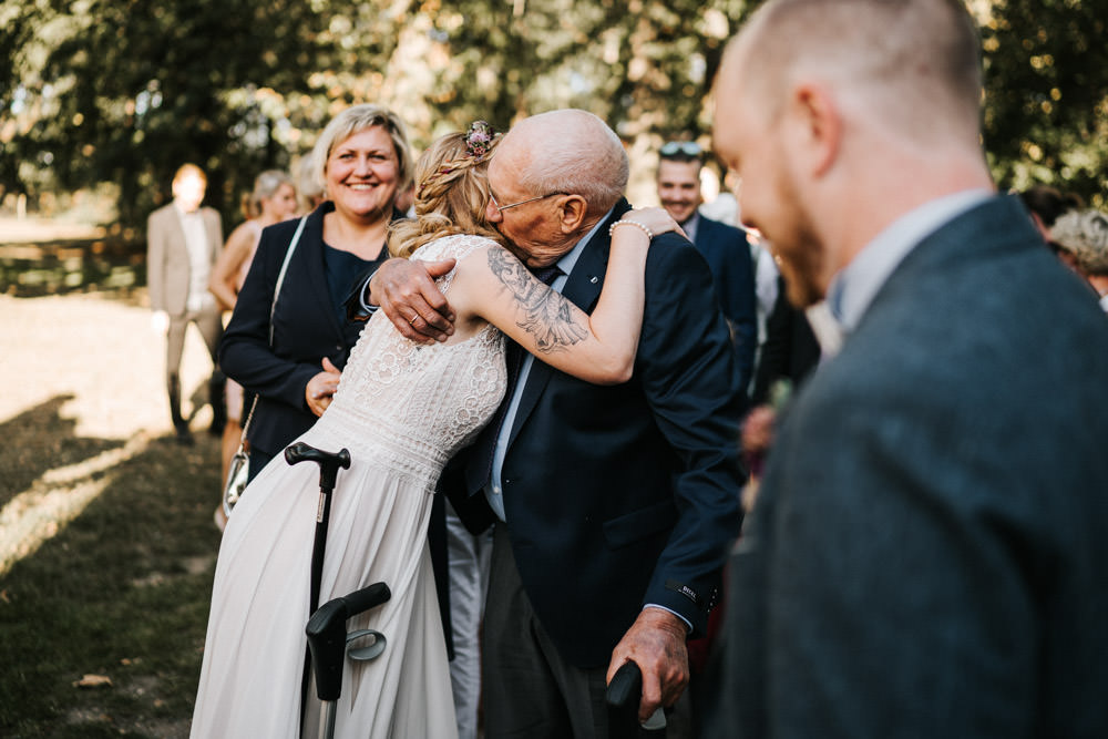
[[[324,215],[334,208],[327,202],[308,216],[277,298],[273,347],[269,308],[299,219],[261,232],[235,312],[219,343],[219,365],[227,376],[248,392],[260,393],[248,438],[254,449],[268,455],[279,452],[316,422],[304,398],[308,380],[322,371],[324,357],[342,369],[365,327],[340,319],[327,284]]]

